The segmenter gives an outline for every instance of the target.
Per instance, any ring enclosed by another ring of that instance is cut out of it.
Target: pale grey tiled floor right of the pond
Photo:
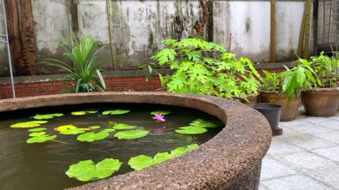
[[[259,190],[339,190],[339,112],[280,122],[262,165]]]

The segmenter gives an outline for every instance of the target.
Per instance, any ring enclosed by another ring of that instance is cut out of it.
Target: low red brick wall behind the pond
[[[108,77],[105,78],[107,91],[154,91],[161,88],[159,76]],[[60,90],[68,87],[62,81],[43,81],[18,83],[14,85],[15,95],[19,97],[60,94]],[[0,99],[12,98],[11,84],[0,84]]]

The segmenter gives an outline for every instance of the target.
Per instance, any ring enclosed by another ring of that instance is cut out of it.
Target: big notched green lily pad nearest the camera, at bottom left
[[[79,181],[87,182],[93,179],[104,179],[110,177],[117,171],[122,162],[118,159],[105,158],[95,165],[92,160],[79,161],[69,166],[66,175],[70,178],[76,178]]]

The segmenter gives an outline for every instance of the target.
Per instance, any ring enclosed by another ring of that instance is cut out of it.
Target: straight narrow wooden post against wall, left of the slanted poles
[[[271,43],[270,43],[270,62],[277,62],[276,46],[276,0],[271,0]]]

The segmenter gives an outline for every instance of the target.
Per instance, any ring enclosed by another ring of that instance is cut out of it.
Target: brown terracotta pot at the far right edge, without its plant
[[[336,115],[339,106],[339,87],[317,88],[301,93],[306,115],[331,117]]]

